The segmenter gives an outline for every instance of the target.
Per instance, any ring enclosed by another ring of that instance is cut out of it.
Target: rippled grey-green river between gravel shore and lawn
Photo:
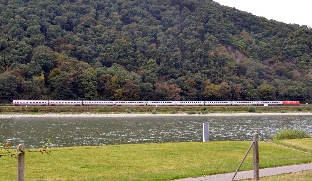
[[[210,141],[250,141],[252,133],[266,140],[280,128],[312,134],[312,116],[0,118],[0,141],[28,148],[47,139],[55,140],[55,147],[202,142],[202,123],[209,123]]]

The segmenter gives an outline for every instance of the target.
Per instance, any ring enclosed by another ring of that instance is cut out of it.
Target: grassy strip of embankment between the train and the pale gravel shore
[[[151,114],[156,109],[157,114],[186,113],[189,110],[203,111],[208,113],[248,113],[248,106],[0,106],[1,114],[23,113],[23,114],[42,114],[42,113],[99,113],[116,114],[125,113],[126,109],[131,109],[135,114]],[[312,112],[312,106],[256,106],[261,113],[272,112]]]

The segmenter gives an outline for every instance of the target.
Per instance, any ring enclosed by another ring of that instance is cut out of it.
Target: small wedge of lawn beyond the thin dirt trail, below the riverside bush
[[[312,138],[276,140],[273,143],[312,153]]]

